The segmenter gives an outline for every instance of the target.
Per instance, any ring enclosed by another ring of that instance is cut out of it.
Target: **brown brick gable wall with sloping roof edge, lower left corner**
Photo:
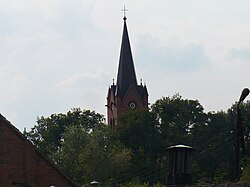
[[[75,186],[0,115],[0,187]]]

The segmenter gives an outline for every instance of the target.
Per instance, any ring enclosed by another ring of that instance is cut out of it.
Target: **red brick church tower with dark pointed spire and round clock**
[[[108,89],[107,114],[108,125],[112,129],[117,124],[120,114],[128,110],[148,108],[148,91],[146,85],[137,84],[136,72],[129,42],[126,16],[123,18],[123,34],[116,84]]]

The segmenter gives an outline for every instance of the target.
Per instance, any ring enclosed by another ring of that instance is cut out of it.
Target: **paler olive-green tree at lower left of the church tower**
[[[129,167],[131,152],[110,135],[103,126],[89,135],[89,142],[80,155],[87,181],[105,181],[119,175]]]

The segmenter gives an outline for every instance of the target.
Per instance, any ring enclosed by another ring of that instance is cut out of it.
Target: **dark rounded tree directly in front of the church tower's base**
[[[129,147],[140,160],[156,159],[161,146],[158,123],[148,111],[130,111],[118,122],[116,134],[121,143]]]

